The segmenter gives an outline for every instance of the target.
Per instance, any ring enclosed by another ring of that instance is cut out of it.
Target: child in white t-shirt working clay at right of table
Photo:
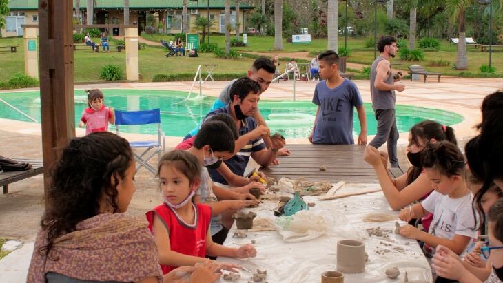
[[[460,255],[470,240],[476,238],[472,195],[464,180],[464,156],[448,141],[429,144],[422,156],[422,167],[431,180],[433,191],[420,204],[402,209],[400,219],[409,221],[433,213],[429,231],[411,225],[400,229],[400,235],[424,242],[424,253],[431,258],[438,245]]]

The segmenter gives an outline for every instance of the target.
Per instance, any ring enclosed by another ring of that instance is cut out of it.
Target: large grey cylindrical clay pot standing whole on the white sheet
[[[356,240],[337,242],[337,270],[342,273],[365,271],[365,244]]]

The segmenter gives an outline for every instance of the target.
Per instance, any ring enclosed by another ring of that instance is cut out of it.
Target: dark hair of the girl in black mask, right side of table
[[[456,136],[454,135],[454,129],[441,125],[433,120],[424,120],[417,123],[411,127],[411,143],[418,145],[418,140],[421,138],[423,140],[431,140],[434,138],[437,141],[447,140],[455,145],[458,144]],[[415,179],[419,177],[422,172],[420,167],[411,167],[407,171],[407,185],[414,182]]]

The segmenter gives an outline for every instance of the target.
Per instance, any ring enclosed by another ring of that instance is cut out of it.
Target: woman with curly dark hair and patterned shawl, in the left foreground
[[[163,277],[147,222],[125,214],[135,174],[124,138],[97,132],[70,140],[52,169],[26,282],[168,283],[187,274],[192,283],[218,279],[218,264],[185,266]]]

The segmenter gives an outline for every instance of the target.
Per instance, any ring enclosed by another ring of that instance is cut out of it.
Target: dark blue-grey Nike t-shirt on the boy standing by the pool
[[[314,89],[313,103],[320,106],[314,126],[313,143],[351,145],[353,139],[353,109],[363,105],[358,87],[348,79],[336,88],[325,80]]]

